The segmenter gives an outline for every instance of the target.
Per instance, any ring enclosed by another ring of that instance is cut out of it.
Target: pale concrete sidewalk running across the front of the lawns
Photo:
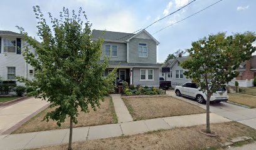
[[[211,123],[225,123],[231,121],[216,114],[210,114]],[[73,129],[73,142],[92,139],[113,138],[122,135],[131,135],[206,124],[206,114],[191,114],[168,118],[147,119],[119,124],[106,124]],[[11,134],[0,136],[0,149],[31,149],[44,146],[68,143],[68,129],[41,131],[35,133]]]

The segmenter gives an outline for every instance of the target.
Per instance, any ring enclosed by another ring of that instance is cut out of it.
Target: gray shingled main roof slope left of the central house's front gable
[[[113,42],[125,42],[127,39],[131,38],[136,34],[126,33],[126,32],[113,32],[113,31],[103,31],[103,30],[95,30],[92,31],[92,38],[98,39],[102,37],[105,41],[113,41]]]

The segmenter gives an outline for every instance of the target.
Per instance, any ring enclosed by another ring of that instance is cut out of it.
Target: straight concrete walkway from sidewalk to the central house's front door
[[[126,108],[124,101],[121,99],[120,94],[110,94],[115,108],[115,113],[117,114],[118,123],[126,123],[133,121],[131,114]]]

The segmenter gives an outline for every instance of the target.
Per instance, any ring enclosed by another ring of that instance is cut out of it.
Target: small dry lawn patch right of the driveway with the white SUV
[[[250,108],[256,108],[256,97],[245,95],[245,94],[236,94],[236,93],[228,93],[229,99],[233,103],[242,104],[248,106]]]

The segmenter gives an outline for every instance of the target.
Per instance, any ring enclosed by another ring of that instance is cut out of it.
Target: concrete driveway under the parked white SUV
[[[166,94],[206,109],[205,104],[199,104],[193,99],[178,97],[172,90],[166,91]],[[230,103],[213,103],[210,104],[210,111],[256,129],[256,109],[244,108]]]

